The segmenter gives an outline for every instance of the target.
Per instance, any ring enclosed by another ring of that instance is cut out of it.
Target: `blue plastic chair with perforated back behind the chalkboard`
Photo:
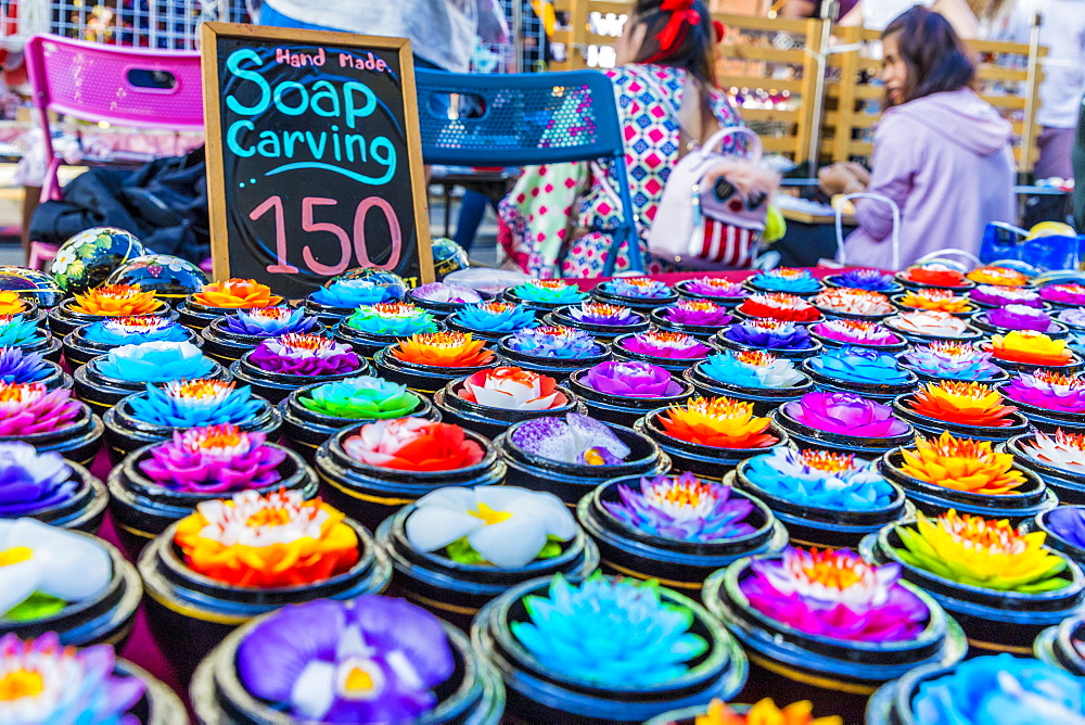
[[[629,266],[643,272],[614,85],[597,71],[523,74],[414,72],[422,158],[449,166],[528,166],[610,160],[623,226],[603,276],[628,242]]]

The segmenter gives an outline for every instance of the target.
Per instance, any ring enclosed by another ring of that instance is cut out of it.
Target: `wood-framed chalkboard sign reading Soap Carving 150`
[[[354,267],[433,280],[410,44],[202,28],[215,279],[291,300]]]

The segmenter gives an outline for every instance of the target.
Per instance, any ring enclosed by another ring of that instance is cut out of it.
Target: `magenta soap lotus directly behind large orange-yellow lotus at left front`
[[[151,448],[139,468],[154,483],[186,494],[222,494],[263,488],[281,481],[285,451],[266,445],[267,435],[224,423],[174,431]]]

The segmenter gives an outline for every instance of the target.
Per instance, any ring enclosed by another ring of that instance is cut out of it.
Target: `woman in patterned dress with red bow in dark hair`
[[[637,0],[614,46],[614,81],[648,271],[648,229],[663,185],[685,149],[703,143],[738,113],[716,88],[713,25],[701,0]],[[733,144],[733,141],[728,141]],[[498,239],[509,258],[534,277],[597,277],[621,228],[622,203],[611,165],[576,162],[529,167],[501,202]],[[628,269],[627,246],[615,270]]]

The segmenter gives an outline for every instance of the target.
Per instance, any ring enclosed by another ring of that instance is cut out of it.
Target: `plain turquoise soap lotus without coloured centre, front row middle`
[[[510,623],[513,636],[539,665],[565,677],[651,687],[681,677],[709,646],[689,632],[693,612],[665,602],[654,581],[597,573],[572,585],[556,574],[549,597],[523,603],[531,622]]]

